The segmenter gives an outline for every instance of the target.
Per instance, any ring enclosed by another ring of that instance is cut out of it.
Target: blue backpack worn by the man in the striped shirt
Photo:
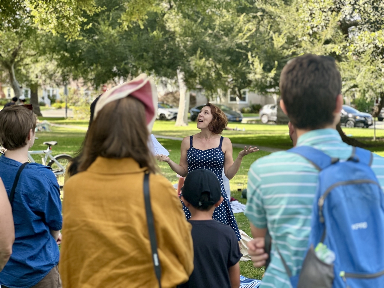
[[[372,153],[354,148],[339,161],[309,146],[288,150],[305,157],[319,172],[314,197],[309,249],[294,288],[384,287],[384,195],[371,169]],[[321,261],[314,247],[332,250],[333,264]]]

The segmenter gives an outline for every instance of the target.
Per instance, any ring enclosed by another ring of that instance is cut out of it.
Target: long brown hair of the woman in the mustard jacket
[[[79,172],[101,156],[132,157],[140,167],[156,173],[158,168],[148,148],[148,139],[144,104],[131,96],[108,103],[89,127]]]

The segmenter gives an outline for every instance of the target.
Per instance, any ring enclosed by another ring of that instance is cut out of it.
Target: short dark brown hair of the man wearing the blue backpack
[[[288,62],[280,75],[281,99],[299,129],[319,129],[334,120],[341,76],[329,56],[306,54]]]

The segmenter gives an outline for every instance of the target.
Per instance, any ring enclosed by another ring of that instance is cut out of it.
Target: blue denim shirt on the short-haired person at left
[[[9,196],[22,164],[0,157],[0,177]],[[29,163],[20,174],[12,203],[15,243],[0,272],[0,285],[29,288],[40,282],[59,262],[59,248],[50,234],[60,230],[60,188],[49,167]],[[1,232],[0,232],[1,233]]]

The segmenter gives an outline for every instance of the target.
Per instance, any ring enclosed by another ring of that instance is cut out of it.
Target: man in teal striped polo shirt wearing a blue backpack
[[[336,131],[343,105],[341,77],[334,59],[303,55],[291,60],[280,76],[280,106],[288,114],[298,140],[341,160],[352,154]],[[374,154],[372,169],[384,186],[384,158]],[[266,229],[272,237],[271,262],[260,287],[291,287],[276,245],[292,275],[300,273],[311,229],[318,170],[298,154],[280,151],[255,161],[248,172],[245,215],[254,239],[248,252],[254,265],[265,265]]]

